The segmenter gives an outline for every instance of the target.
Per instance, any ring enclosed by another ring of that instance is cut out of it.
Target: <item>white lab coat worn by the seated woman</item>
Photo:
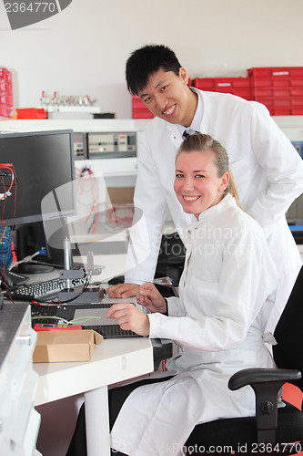
[[[278,275],[258,223],[227,195],[185,238],[180,297],[168,298],[168,316],[148,315],[150,337],[179,346],[169,363],[177,376],[126,399],[112,446],[130,456],[176,456],[197,422],[253,415],[253,390],[231,391],[228,379],[241,368],[274,367],[260,310]]]

